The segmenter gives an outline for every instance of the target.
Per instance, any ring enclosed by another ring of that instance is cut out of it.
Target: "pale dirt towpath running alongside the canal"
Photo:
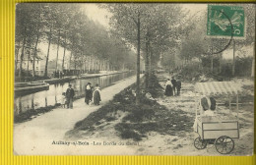
[[[68,143],[54,142],[65,141],[64,135],[74,128],[74,125],[96,111],[100,106],[111,100],[123,88],[135,83],[136,77],[119,81],[101,90],[99,106],[86,105],[84,98],[74,102],[73,109],[62,107],[37,116],[22,124],[14,125],[14,153],[19,155],[65,155],[76,154],[78,147]],[[85,146],[83,146],[85,150]],[[78,153],[79,154],[79,153]],[[82,153],[80,153],[82,154]]]

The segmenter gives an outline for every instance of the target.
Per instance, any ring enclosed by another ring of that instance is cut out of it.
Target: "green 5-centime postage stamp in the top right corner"
[[[242,7],[208,5],[207,35],[244,37],[244,27]]]

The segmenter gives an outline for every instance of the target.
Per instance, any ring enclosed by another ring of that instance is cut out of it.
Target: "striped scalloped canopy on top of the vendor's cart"
[[[237,83],[232,82],[210,82],[196,83],[195,90],[203,95],[237,94],[241,87]]]

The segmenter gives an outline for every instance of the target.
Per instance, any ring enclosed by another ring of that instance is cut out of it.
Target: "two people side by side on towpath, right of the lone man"
[[[86,97],[85,102],[89,105],[94,103],[95,105],[99,105],[100,98],[100,87],[96,83],[96,87],[92,86],[92,83],[87,83],[86,85]]]

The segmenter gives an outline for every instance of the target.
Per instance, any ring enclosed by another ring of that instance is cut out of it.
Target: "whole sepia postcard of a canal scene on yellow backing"
[[[15,155],[252,155],[253,3],[17,3]]]

